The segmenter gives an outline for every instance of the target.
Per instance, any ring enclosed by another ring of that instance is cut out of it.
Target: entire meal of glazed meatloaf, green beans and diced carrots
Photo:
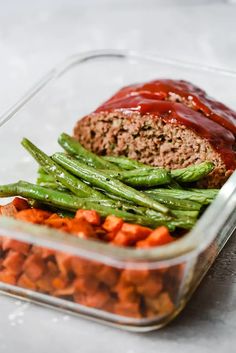
[[[235,169],[236,113],[185,81],[121,89],[59,136],[30,140],[37,181],[1,185],[2,216],[136,251],[178,241]],[[119,268],[0,238],[0,281],[133,318],[171,315],[185,264]]]

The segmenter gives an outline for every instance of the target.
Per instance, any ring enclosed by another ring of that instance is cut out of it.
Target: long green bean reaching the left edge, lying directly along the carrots
[[[0,197],[10,196],[22,196],[33,200],[33,202],[40,202],[41,205],[50,206],[56,209],[57,212],[63,213],[63,216],[66,217],[68,217],[68,214],[64,213],[64,211],[76,212],[77,209],[93,209],[104,217],[113,214],[123,218],[127,222],[138,223],[152,228],[165,225],[170,231],[173,231],[176,227],[190,229],[195,223],[194,218],[189,217],[190,214],[179,214],[179,218],[172,220],[168,216],[164,216],[150,209],[145,209],[144,207],[130,207],[130,205],[123,205],[122,202],[117,203],[107,199],[94,200],[78,198],[72,194],[24,181],[0,186]],[[184,216],[184,218],[182,218],[182,216]]]

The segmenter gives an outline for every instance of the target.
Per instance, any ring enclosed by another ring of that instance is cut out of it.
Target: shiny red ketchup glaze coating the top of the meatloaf
[[[171,94],[191,100],[191,108],[183,103],[166,101]],[[137,111],[152,114],[163,121],[181,124],[207,139],[221,155],[226,168],[236,168],[236,113],[208,98],[204,91],[185,81],[158,80],[124,87],[95,112],[119,110],[125,114]]]

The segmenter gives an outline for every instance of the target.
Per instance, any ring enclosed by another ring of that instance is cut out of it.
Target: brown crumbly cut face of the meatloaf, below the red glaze
[[[204,180],[208,187],[221,186],[227,171],[210,143],[183,125],[165,123],[150,115],[101,112],[87,116],[75,128],[76,138],[99,155],[124,155],[169,169],[213,161],[214,171]]]

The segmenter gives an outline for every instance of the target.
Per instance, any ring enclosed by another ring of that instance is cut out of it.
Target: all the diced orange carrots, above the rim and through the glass
[[[74,218],[63,218],[31,208],[21,198],[2,206],[0,213],[118,246],[148,248],[174,241],[166,227],[152,230],[112,215],[102,220],[93,210],[78,210]],[[0,281],[129,317],[170,314],[182,270],[180,266],[121,269],[0,237]]]

